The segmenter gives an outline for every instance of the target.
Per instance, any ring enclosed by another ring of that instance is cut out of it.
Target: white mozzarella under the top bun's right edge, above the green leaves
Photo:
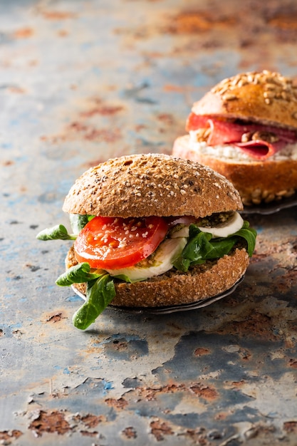
[[[234,212],[234,214],[226,222],[218,224],[215,227],[203,227],[199,226],[200,231],[209,232],[212,237],[228,237],[234,232],[239,231],[244,224],[244,219],[241,217],[239,212]],[[189,227],[183,227],[177,232],[173,232],[172,238],[174,237],[189,237]]]

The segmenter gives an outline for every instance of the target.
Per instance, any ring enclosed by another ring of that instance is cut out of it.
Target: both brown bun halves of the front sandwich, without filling
[[[197,162],[170,155],[128,155],[85,172],[63,204],[69,214],[105,217],[207,217],[243,209],[231,182]],[[77,264],[73,247],[66,269]],[[187,272],[170,269],[145,281],[115,281],[113,306],[156,307],[189,304],[216,296],[244,275],[249,255],[236,245],[219,260]],[[74,284],[85,294],[85,284]]]

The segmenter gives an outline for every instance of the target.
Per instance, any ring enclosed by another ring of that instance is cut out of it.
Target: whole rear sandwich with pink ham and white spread
[[[172,154],[212,167],[245,206],[297,190],[297,87],[270,71],[226,78],[192,106]]]

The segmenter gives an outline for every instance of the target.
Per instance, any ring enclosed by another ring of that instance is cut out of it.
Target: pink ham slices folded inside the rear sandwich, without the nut
[[[219,120],[212,116],[199,116],[190,113],[186,130],[210,128],[211,133],[207,139],[209,145],[234,144],[256,160],[265,160],[281,150],[288,142],[296,142],[297,135],[294,130],[272,127],[254,123],[239,124],[232,121]],[[278,140],[267,142],[265,140],[252,140],[241,142],[241,136],[249,132],[274,133]]]

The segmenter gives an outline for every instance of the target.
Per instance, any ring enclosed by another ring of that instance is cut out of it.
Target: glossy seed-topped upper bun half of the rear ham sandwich
[[[297,85],[271,71],[237,74],[215,85],[192,112],[296,129]]]

